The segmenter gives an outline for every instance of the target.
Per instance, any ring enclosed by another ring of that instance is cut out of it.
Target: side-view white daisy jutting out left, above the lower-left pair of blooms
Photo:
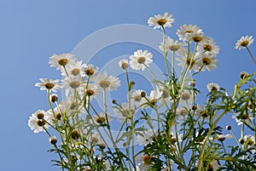
[[[58,89],[61,88],[61,84],[59,83],[60,80],[52,80],[49,78],[40,78],[40,81],[42,83],[36,83],[35,86],[39,87],[40,90],[49,90],[49,92],[52,90],[53,92],[57,92]]]

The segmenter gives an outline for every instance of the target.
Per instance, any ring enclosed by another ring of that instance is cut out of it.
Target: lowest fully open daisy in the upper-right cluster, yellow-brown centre
[[[201,68],[201,71],[212,71],[218,66],[218,59],[210,54],[199,54],[200,58],[197,63],[197,67]]]

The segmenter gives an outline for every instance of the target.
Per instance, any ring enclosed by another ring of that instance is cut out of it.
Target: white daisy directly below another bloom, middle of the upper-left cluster
[[[73,94],[74,90],[79,92],[79,94],[84,94],[86,82],[84,78],[80,75],[65,77],[63,80],[63,88],[66,88],[66,96],[71,92]]]

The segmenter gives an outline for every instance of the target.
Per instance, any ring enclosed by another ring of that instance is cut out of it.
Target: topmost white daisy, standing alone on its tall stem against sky
[[[157,14],[154,15],[154,17],[150,17],[148,19],[148,26],[154,26],[154,29],[162,27],[171,27],[173,22],[174,19],[172,18],[172,14]]]

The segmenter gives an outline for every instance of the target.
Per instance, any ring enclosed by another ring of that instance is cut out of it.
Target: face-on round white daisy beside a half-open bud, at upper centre
[[[133,70],[144,71],[146,67],[153,62],[151,60],[153,54],[148,52],[148,50],[138,49],[134,54],[130,56],[130,65]]]

